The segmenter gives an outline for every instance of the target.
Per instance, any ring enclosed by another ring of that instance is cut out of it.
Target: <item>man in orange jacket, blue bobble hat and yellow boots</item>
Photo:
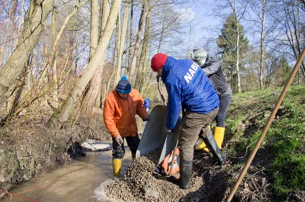
[[[113,175],[120,175],[122,158],[125,155],[124,139],[131,151],[132,159],[138,149],[140,138],[135,114],[143,121],[151,120],[139,91],[131,88],[127,76],[122,76],[115,89],[104,102],[103,118],[107,130],[112,136]]]

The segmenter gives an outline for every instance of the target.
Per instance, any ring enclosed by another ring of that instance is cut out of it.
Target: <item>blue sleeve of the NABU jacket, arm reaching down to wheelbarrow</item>
[[[174,80],[173,82],[165,83],[165,87],[168,93],[167,116],[165,125],[166,127],[172,129],[175,128],[181,111],[181,89],[178,86],[179,82],[177,82],[176,80]]]

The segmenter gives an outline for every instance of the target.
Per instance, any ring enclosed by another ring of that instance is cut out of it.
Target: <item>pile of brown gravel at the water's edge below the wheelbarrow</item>
[[[190,181],[191,188],[182,190],[178,185],[168,181],[168,176],[161,176],[154,171],[161,151],[152,151],[145,156],[134,159],[130,163],[124,177],[105,186],[107,197],[119,202],[139,201],[198,201],[203,179],[193,172]],[[175,174],[179,177],[179,174]],[[197,200],[196,200],[197,199]]]

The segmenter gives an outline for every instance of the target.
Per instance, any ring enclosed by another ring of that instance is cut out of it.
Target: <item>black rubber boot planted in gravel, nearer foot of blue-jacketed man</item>
[[[176,178],[171,176],[169,180],[174,184],[179,185],[181,189],[189,189],[190,188],[190,179],[192,176],[192,166],[193,161],[180,161],[179,170],[180,170],[180,178]]]

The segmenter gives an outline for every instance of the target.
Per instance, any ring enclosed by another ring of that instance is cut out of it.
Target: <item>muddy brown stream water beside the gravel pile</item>
[[[10,192],[37,202],[113,201],[106,199],[103,192],[104,184],[115,179],[112,173],[112,151],[86,154],[86,157],[72,159],[65,166],[43,173],[36,180],[19,184]],[[131,152],[127,149],[122,160],[121,174],[124,174],[131,161]],[[12,202],[28,202],[22,198],[6,196]]]

